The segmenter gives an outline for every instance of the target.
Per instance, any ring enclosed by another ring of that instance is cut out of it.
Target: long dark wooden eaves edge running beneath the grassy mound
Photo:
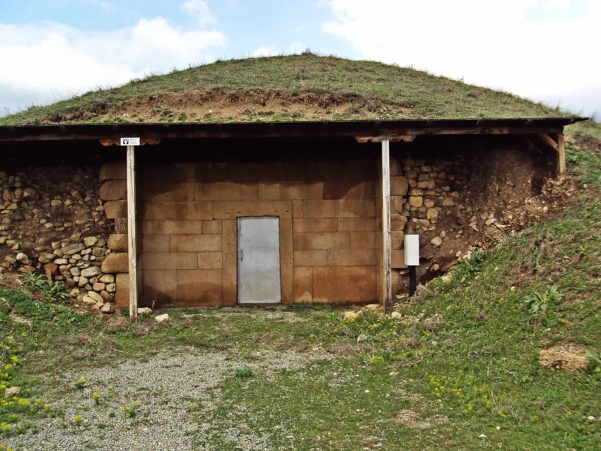
[[[0,142],[93,140],[119,144],[122,136],[162,139],[337,139],[412,141],[422,135],[554,134],[581,117],[532,119],[405,119],[347,122],[240,122],[207,124],[57,124],[0,127]]]

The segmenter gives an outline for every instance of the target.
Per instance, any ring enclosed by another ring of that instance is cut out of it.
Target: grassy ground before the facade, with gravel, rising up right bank
[[[600,449],[601,361],[573,373],[538,363],[554,344],[601,351],[601,159],[573,143],[568,156],[583,190],[564,213],[397,300],[395,319],[293,305],[169,310],[166,323],[132,325],[1,286],[11,368],[0,384],[23,390],[0,404],[0,443]]]

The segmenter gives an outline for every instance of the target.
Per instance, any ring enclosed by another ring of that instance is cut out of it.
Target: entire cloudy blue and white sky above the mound
[[[601,0],[0,0],[0,115],[305,48],[601,115],[600,24]]]

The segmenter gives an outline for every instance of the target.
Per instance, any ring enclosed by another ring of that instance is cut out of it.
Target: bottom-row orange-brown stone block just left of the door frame
[[[177,271],[177,305],[220,305],[222,286],[221,269]]]

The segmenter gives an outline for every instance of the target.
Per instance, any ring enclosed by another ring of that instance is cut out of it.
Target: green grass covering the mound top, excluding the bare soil
[[[167,75],[151,75],[118,88],[96,90],[52,105],[32,106],[0,118],[0,125],[35,124],[49,115],[74,112],[95,104],[118,105],[126,99],[189,90],[349,95],[368,105],[384,103],[407,108],[407,117],[412,118],[571,116],[558,108],[510,93],[433,76],[425,71],[305,52],[216,61]]]

